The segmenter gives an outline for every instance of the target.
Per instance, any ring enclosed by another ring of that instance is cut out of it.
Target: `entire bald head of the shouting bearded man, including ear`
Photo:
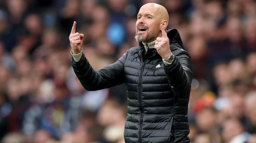
[[[168,22],[169,15],[165,7],[155,3],[143,5],[137,15],[136,41],[149,43],[161,37],[160,24],[166,28]]]

